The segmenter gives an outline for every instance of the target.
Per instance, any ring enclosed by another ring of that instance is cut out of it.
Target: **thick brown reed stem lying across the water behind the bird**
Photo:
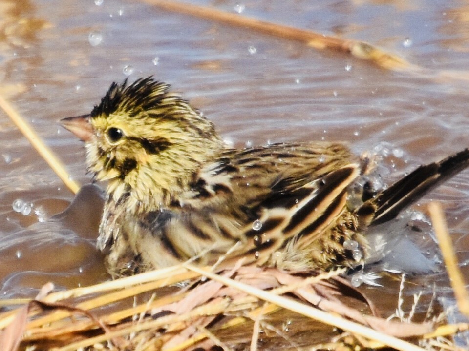
[[[312,31],[298,29],[286,25],[270,23],[244,17],[235,13],[228,13],[214,9],[213,7],[199,6],[170,0],[141,0],[164,10],[191,15],[203,19],[215,20],[224,24],[230,24],[242,28],[249,28],[260,33],[276,36],[279,38],[296,40],[306,43],[316,49],[331,49],[347,52],[359,59],[370,61],[379,67],[393,70],[406,71],[416,66],[411,65],[400,57],[384,52],[368,43],[358,40],[341,39],[326,36]]]

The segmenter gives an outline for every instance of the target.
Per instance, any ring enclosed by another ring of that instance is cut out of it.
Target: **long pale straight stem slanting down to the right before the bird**
[[[276,304],[277,306],[283,307],[285,309],[288,309],[292,312],[297,312],[299,314],[302,314],[304,316],[313,318],[315,320],[318,320],[322,323],[340,328],[342,330],[350,331],[352,333],[362,335],[368,339],[372,340],[378,340],[385,345],[389,347],[393,347],[396,350],[401,350],[401,351],[425,351],[424,349],[413,345],[407,341],[398,339],[393,336],[389,336],[387,334],[381,333],[379,331],[375,331],[371,328],[365,327],[363,325],[360,325],[358,323],[351,322],[347,319],[344,319],[342,317],[339,317],[337,315],[334,315],[332,313],[324,312],[321,310],[318,310],[314,307],[305,305],[303,303],[285,298],[283,296],[278,296],[274,295],[270,292],[264,291],[257,289],[255,287],[251,287],[247,284],[241,283],[239,281],[235,281],[233,279],[211,273],[209,271],[205,271],[201,268],[195,267],[191,264],[184,264],[184,267],[190,269],[191,271],[200,273],[201,275],[205,275],[208,278],[221,282],[225,284],[226,286],[229,286],[231,288],[240,290],[242,292],[246,292],[250,295],[256,296],[259,299],[262,299],[264,301],[268,301],[271,303]]]

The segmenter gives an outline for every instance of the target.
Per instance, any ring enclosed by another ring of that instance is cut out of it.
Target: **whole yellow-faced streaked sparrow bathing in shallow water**
[[[85,141],[89,172],[107,181],[97,245],[114,276],[241,257],[294,271],[355,267],[373,249],[369,227],[469,165],[466,149],[373,193],[357,182],[367,159],[346,146],[227,147],[152,77],[113,83],[89,115],[61,123]]]

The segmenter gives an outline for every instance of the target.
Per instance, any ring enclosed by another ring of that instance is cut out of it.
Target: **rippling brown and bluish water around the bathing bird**
[[[232,13],[237,3],[191,2]],[[90,180],[83,146],[56,121],[88,113],[110,82],[131,71],[130,80],[170,82],[236,146],[340,140],[357,153],[384,147],[397,155],[384,159],[389,179],[469,146],[466,3],[258,0],[242,15],[364,40],[426,73],[390,72],[138,1],[1,0],[1,93],[82,184]],[[72,288],[107,279],[95,233],[40,222],[73,195],[3,113],[0,156],[0,296],[31,296],[47,281]],[[16,199],[34,205],[29,215],[13,211]],[[444,203],[469,276],[469,172],[421,202],[428,199]],[[96,228],[95,213],[72,220]],[[429,280],[448,286],[444,274]]]

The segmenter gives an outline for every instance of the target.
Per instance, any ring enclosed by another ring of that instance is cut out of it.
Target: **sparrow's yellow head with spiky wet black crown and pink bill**
[[[152,77],[112,83],[89,115],[61,124],[85,141],[88,170],[149,210],[184,190],[223,149],[213,123]]]

